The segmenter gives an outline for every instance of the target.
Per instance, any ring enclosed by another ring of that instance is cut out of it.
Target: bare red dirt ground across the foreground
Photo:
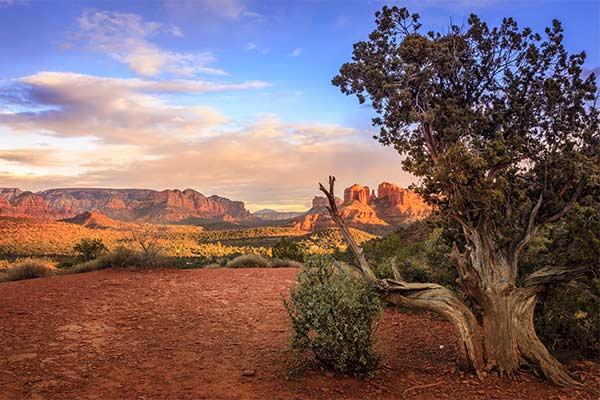
[[[455,336],[423,314],[386,311],[373,380],[288,379],[282,297],[294,269],[100,271],[0,285],[2,399],[598,399],[528,374],[455,372]],[[243,371],[253,376],[242,376]]]

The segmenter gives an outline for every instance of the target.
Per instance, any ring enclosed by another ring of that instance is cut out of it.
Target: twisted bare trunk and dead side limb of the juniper
[[[464,369],[473,370],[478,376],[485,370],[513,376],[522,366],[529,366],[555,384],[578,384],[537,337],[533,313],[537,295],[545,284],[571,278],[583,270],[539,270],[525,278],[522,287],[516,287],[516,255],[508,257],[495,252],[485,231],[479,232],[464,224],[470,248],[461,254],[454,245],[450,258],[458,270],[458,283],[463,292],[481,311],[480,326],[471,309],[441,285],[404,282],[397,271],[395,279],[378,279],[338,211],[334,183],[335,177],[331,176],[329,189],[323,185],[319,188],[327,196],[327,209],[356,258],[358,265],[354,267],[382,292],[387,302],[429,310],[450,321],[460,338]]]

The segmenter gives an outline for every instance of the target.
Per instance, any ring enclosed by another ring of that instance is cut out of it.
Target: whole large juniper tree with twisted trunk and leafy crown
[[[388,301],[453,322],[465,366],[478,374],[510,376],[529,365],[557,384],[575,383],[538,339],[533,313],[548,284],[582,268],[522,276],[519,259],[540,228],[598,186],[597,88],[584,74],[585,53],[567,53],[556,20],[543,37],[512,18],[490,28],[475,15],[465,27],[423,33],[419,15],[384,7],[376,25],[333,84],[372,106],[376,138],[404,156],[426,201],[459,224],[450,258],[470,306],[440,285],[378,280],[331,201],[330,178],[321,190],[359,269]]]

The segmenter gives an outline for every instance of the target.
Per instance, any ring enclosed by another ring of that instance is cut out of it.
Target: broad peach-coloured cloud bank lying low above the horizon
[[[370,139],[371,132],[336,124],[286,123],[268,117],[236,130],[192,140],[175,138],[130,152],[128,162],[111,159],[113,148],[100,145],[86,155],[76,175],[57,179],[52,170],[39,179],[24,178],[25,188],[85,184],[103,187],[192,187],[204,194],[244,200],[253,208],[278,204],[309,206],[317,183],[335,174],[340,188],[355,182],[376,185],[389,180],[408,185],[400,156]],[[125,150],[123,150],[125,152]],[[46,181],[51,177],[51,181]],[[17,178],[8,180],[18,183]]]

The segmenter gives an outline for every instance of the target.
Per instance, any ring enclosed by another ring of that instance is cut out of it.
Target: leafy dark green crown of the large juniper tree
[[[567,53],[559,21],[542,39],[512,18],[490,28],[471,15],[444,33],[421,32],[419,18],[383,7],[333,84],[369,101],[378,139],[405,155],[426,200],[487,222],[509,248],[539,198],[542,223],[597,186],[596,77],[583,74],[584,52]]]

